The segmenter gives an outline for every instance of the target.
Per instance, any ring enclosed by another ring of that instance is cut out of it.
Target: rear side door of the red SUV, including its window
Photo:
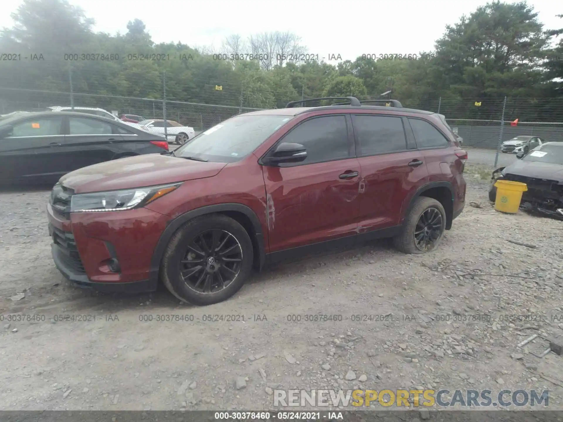
[[[361,167],[359,233],[397,226],[409,192],[427,178],[425,157],[406,136],[406,118],[352,115]]]

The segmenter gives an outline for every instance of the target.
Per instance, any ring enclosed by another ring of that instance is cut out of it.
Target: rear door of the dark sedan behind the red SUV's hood
[[[111,160],[115,155],[113,144],[123,142],[116,125],[110,122],[88,116],[66,119],[68,124],[62,147],[65,173]]]

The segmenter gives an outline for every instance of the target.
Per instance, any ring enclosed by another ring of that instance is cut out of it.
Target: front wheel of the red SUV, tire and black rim
[[[160,264],[160,278],[182,302],[198,306],[229,299],[252,272],[247,231],[221,214],[196,217],[178,228]]]

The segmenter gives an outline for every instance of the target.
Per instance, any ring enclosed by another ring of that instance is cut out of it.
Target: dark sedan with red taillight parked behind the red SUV
[[[73,170],[122,157],[168,151],[162,136],[71,111],[0,118],[0,183],[52,183]]]

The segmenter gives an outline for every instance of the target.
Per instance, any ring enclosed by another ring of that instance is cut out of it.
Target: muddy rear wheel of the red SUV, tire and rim
[[[445,228],[444,206],[434,198],[419,196],[406,216],[403,232],[393,238],[393,243],[406,254],[431,252],[444,237]]]

